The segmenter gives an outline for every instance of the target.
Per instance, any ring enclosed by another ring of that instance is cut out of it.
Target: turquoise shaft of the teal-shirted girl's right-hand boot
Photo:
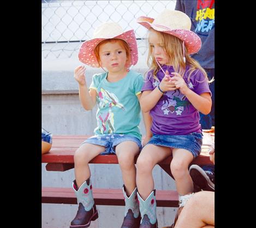
[[[134,218],[138,218],[139,217],[139,203],[137,200],[137,188],[134,189],[133,193],[127,197],[126,192],[124,191],[124,187],[123,187],[123,195],[124,195],[124,201],[126,203],[125,207],[124,207],[124,217],[126,217],[128,210],[132,209],[133,212],[133,216]]]

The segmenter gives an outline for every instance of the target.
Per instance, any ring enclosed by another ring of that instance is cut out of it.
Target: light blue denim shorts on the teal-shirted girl
[[[135,142],[138,147],[142,148],[141,141],[130,135],[122,135],[122,134],[102,134],[102,135],[94,135],[87,140],[85,140],[83,143],[91,143],[99,146],[105,147],[105,152],[102,152],[100,154],[116,154],[115,149],[118,144],[125,141],[133,141]]]

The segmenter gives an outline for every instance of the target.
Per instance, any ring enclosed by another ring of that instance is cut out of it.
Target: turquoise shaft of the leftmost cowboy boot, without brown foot
[[[73,182],[74,184],[74,182]],[[74,189],[73,185],[72,188]],[[92,209],[92,206],[94,205],[94,200],[92,196],[92,188],[91,188],[91,179],[89,185],[87,185],[86,181],[80,186],[78,191],[75,191],[76,198],[78,199],[78,205],[79,203],[82,203],[82,205],[85,207],[86,211],[90,211]]]

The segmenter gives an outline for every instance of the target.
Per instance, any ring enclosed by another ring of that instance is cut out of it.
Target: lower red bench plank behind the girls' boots
[[[124,206],[122,189],[93,188],[96,205]],[[71,188],[42,188],[42,203],[77,204],[76,196]],[[178,193],[175,190],[157,190],[158,207],[178,207]]]

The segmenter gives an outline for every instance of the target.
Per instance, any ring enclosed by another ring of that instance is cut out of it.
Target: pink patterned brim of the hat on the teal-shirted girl
[[[103,37],[86,40],[80,46],[78,54],[79,61],[85,63],[86,65],[90,65],[90,67],[100,67],[94,53],[94,49],[100,42],[106,39],[121,39],[126,41],[130,47],[130,62],[128,63],[127,67],[135,65],[138,62],[138,47],[133,29],[127,32],[123,32],[120,35],[116,35],[115,37]]]

